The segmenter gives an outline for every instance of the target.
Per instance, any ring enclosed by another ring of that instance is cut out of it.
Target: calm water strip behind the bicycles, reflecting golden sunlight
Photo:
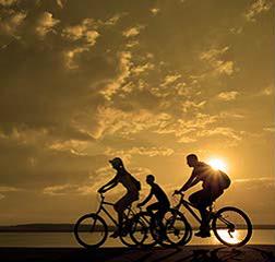
[[[189,245],[218,245],[215,237],[193,237]],[[275,245],[275,230],[253,231],[250,245]],[[80,247],[72,233],[0,233],[0,247]],[[108,238],[105,247],[122,247],[119,239]]]

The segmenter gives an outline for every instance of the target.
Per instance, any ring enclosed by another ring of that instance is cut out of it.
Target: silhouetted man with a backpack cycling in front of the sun
[[[202,217],[200,231],[198,231],[195,236],[210,237],[211,234],[206,209],[224,193],[224,189],[229,187],[230,179],[220,170],[214,170],[210,165],[199,162],[198,156],[194,154],[187,156],[187,164],[190,167],[193,167],[193,171],[188,181],[180,188],[180,190],[176,190],[175,193],[187,191],[198,182],[203,182],[203,189],[192,193],[189,196],[189,201],[200,211]]]

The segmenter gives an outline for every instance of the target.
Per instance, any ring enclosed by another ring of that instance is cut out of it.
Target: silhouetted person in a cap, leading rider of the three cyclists
[[[117,170],[117,175],[109,182],[98,189],[98,192],[105,193],[115,188],[118,183],[121,183],[127,189],[127,193],[117,203],[115,203],[113,206],[115,211],[118,213],[119,226],[116,228],[113,234],[110,235],[110,237],[117,238],[121,233],[124,210],[134,201],[139,200],[139,190],[141,189],[141,184],[130,172],[127,171],[121,158],[115,157],[109,160],[109,163],[112,168]]]

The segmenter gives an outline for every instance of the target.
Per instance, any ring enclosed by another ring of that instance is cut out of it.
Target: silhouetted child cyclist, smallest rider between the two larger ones
[[[146,182],[151,186],[150,194],[145,198],[145,200],[138,204],[138,207],[145,205],[152,199],[152,196],[155,195],[157,202],[148,205],[146,210],[151,215],[153,215],[153,211],[157,211],[156,221],[160,226],[160,234],[163,235],[162,237],[164,237],[164,225],[162,221],[165,213],[170,207],[170,203],[165,191],[155,182],[155,177],[153,175],[147,175]]]

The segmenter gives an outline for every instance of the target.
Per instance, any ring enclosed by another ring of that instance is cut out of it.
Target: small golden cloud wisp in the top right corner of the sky
[[[244,13],[244,17],[249,22],[255,22],[256,16],[263,12],[267,12],[273,7],[271,0],[254,0]]]

